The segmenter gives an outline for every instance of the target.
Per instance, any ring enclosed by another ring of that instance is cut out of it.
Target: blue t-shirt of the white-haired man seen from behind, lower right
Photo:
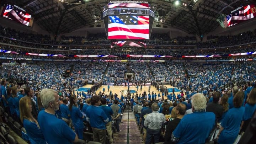
[[[204,144],[215,125],[213,112],[194,112],[185,115],[174,132],[177,144]]]

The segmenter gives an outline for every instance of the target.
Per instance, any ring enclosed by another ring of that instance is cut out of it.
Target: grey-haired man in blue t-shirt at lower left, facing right
[[[44,111],[38,114],[38,123],[43,132],[44,139],[48,144],[71,144],[85,143],[78,139],[76,133],[68,124],[55,116],[55,111],[59,110],[58,92],[52,89],[43,89],[40,92]]]

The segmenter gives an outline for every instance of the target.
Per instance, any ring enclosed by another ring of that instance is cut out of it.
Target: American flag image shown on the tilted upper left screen
[[[29,25],[31,20],[30,14],[27,14],[26,12],[23,12],[22,10],[17,9],[12,5],[7,5],[5,7],[3,17],[22,23],[23,25],[26,25],[26,26]]]

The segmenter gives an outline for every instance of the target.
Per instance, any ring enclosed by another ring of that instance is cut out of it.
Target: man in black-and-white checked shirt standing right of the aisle
[[[154,143],[159,142],[162,124],[165,122],[164,114],[158,112],[158,104],[153,103],[151,108],[153,112],[148,114],[144,121],[144,126],[147,127],[145,144],[151,144],[151,139],[153,136],[155,140]]]

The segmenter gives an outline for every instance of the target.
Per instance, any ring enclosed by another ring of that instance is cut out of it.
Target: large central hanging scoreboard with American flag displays
[[[147,1],[110,1],[103,8],[108,39],[149,39],[154,11]]]

